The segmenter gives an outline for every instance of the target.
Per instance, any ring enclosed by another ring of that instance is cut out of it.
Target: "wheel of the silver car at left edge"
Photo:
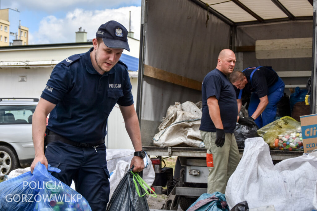
[[[16,152],[9,146],[0,146],[0,177],[19,167]]]

